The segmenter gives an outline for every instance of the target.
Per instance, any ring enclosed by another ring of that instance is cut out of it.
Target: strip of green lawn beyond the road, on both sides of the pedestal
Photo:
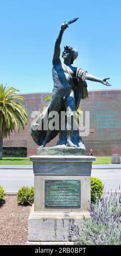
[[[120,157],[121,160],[121,157]],[[96,161],[93,164],[110,164],[111,156],[102,156],[97,157]],[[32,164],[29,160],[29,157],[3,157],[3,160],[0,160],[0,164]]]

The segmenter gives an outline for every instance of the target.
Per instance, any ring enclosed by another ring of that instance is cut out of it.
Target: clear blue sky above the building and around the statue
[[[20,93],[51,92],[52,58],[61,23],[79,17],[61,42],[77,48],[74,66],[111,87],[88,82],[88,89],[120,89],[121,1],[0,0],[0,83]]]

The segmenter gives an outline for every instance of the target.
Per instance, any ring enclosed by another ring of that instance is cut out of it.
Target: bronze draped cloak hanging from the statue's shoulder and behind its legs
[[[80,100],[86,99],[86,97],[88,97],[87,83],[85,81],[86,72],[87,72],[86,70],[77,68],[76,76],[74,78],[72,77],[72,80],[73,80],[73,88],[72,89],[73,89],[74,98],[75,98],[75,111],[77,111],[77,109],[79,107]],[[69,74],[69,76],[71,76],[71,75]],[[53,88],[53,94],[54,93],[59,94],[58,88]],[[53,94],[52,94],[52,97],[53,97]],[[55,97],[55,101],[56,101],[56,97]],[[39,119],[36,121],[36,123],[31,126],[31,136],[34,139],[34,142],[40,146],[42,145],[44,138],[46,137],[47,130],[48,130],[48,115],[49,115],[50,106],[51,106],[51,101],[50,101],[48,107],[46,108],[46,110],[43,113],[41,113],[41,115],[40,115]],[[53,109],[52,111],[55,111],[55,109]],[[59,112],[58,112],[59,118],[61,117],[61,111],[66,111],[65,107],[63,106],[63,100],[62,100],[62,104],[59,107]],[[59,122],[59,124],[60,123],[61,122]],[[45,130],[45,126],[46,126],[46,130]],[[49,136],[47,138],[47,143],[52,141],[52,139],[54,139],[58,135],[59,132],[60,132],[60,139],[59,139],[58,145],[61,145],[62,140],[65,137],[66,131],[61,132],[60,127],[59,127],[59,130],[53,130],[49,133]],[[61,139],[61,137],[62,137],[62,139]],[[75,141],[75,137],[77,137],[77,140],[78,140],[77,145],[79,147],[79,141],[82,141],[81,137],[79,136],[79,131],[73,131],[72,142],[73,142],[73,139]]]

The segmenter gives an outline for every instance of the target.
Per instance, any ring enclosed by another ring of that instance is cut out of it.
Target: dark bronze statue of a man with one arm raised
[[[80,99],[86,99],[88,97],[87,93],[87,83],[86,80],[91,80],[94,82],[100,82],[106,86],[111,86],[107,82],[108,78],[98,78],[91,74],[88,74],[86,70],[72,66],[74,60],[78,57],[78,52],[75,48],[70,46],[65,46],[62,52],[63,62],[60,60],[60,44],[62,40],[63,32],[68,27],[68,23],[64,22],[61,25],[60,33],[55,42],[54,56],[53,56],[53,81],[54,88],[52,93],[52,100],[48,106],[46,114],[42,114],[40,119],[43,120],[45,115],[49,115],[51,111],[57,111],[59,114],[61,111],[65,111],[68,117],[71,117],[71,129],[69,129],[68,121],[66,122],[66,146],[67,147],[79,147],[77,143],[73,143],[73,118],[74,111],[77,111],[80,103]],[[49,119],[48,119],[49,121]],[[39,123],[39,120],[37,121]],[[37,123],[34,125],[37,126]],[[59,131],[51,130],[36,130],[31,127],[31,136],[34,141],[40,145],[40,147],[45,147],[45,145],[51,141]],[[77,133],[75,133],[77,134]],[[79,134],[78,142],[81,141]],[[75,136],[74,136],[75,137]],[[82,141],[81,141],[82,142]],[[61,143],[60,143],[61,144]]]

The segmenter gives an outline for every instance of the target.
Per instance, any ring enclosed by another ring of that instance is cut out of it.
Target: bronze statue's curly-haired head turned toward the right
[[[78,51],[70,46],[64,46],[64,51],[62,52],[63,59],[70,59],[70,63],[73,64],[74,60],[78,57]]]

